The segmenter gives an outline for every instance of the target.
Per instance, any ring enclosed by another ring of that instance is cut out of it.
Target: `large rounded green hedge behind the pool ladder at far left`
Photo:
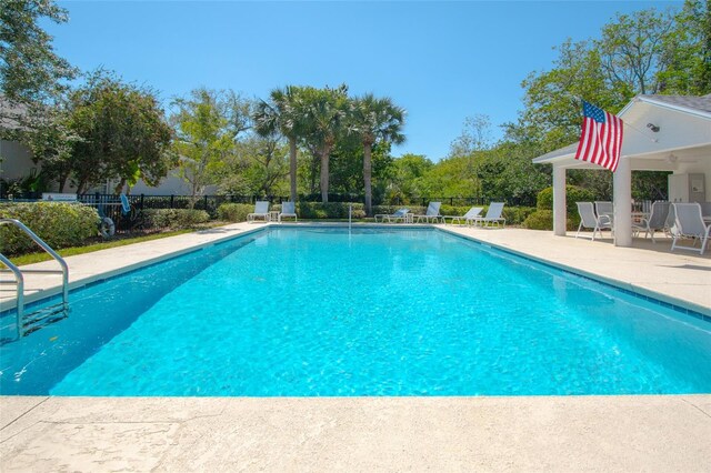
[[[77,246],[96,236],[99,214],[92,207],[67,202],[0,204],[0,218],[24,223],[54,249]],[[19,254],[38,250],[38,245],[14,227],[0,227],[0,252]]]

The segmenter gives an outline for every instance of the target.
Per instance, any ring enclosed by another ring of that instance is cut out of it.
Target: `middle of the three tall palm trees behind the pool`
[[[348,111],[348,87],[337,89],[303,88],[299,94],[299,110],[303,118],[303,137],[321,161],[321,201],[329,201],[329,158],[343,131]]]

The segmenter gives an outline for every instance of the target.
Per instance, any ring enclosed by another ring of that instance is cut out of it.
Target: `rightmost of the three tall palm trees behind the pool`
[[[360,137],[363,143],[363,181],[365,184],[365,213],[372,214],[373,191],[371,184],[373,144],[388,141],[404,142],[404,109],[395,105],[388,97],[377,99],[372,93],[353,100],[349,131]]]

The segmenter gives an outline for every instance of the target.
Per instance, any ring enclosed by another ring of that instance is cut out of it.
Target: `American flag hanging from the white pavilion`
[[[592,162],[614,172],[622,148],[622,120],[582,101],[582,132],[575,159]]]

